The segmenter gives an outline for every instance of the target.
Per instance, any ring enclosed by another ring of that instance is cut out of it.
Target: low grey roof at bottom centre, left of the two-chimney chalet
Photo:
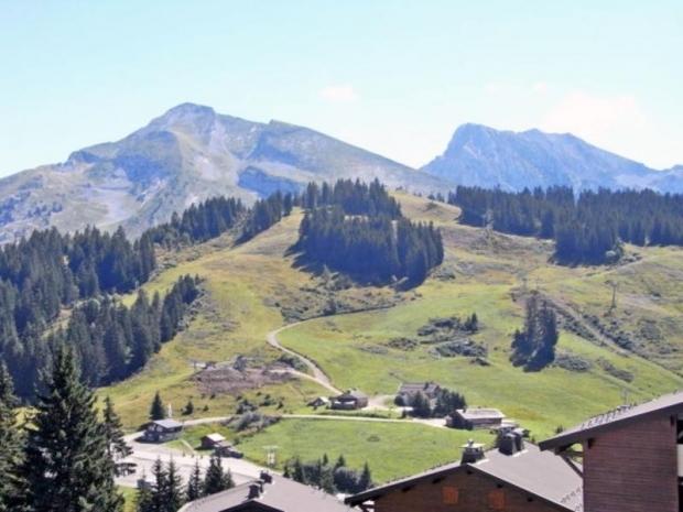
[[[248,504],[279,512],[351,512],[351,509],[334,495],[277,475],[272,476],[271,483],[263,483],[260,495],[249,498],[250,487],[258,483],[259,480],[251,480],[227,491],[192,501],[180,512],[230,512],[243,510]]]

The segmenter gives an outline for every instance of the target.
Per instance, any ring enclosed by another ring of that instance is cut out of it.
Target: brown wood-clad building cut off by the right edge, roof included
[[[680,512],[681,443],[683,392],[618,407],[540,447],[582,459],[585,512]]]

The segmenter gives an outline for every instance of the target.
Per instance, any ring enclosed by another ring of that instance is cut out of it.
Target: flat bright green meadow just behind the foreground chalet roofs
[[[384,482],[441,464],[457,460],[469,438],[490,444],[486,432],[435,428],[414,423],[379,423],[343,420],[282,420],[259,434],[236,436],[228,427],[200,425],[185,431],[184,438],[198,446],[202,436],[218,432],[238,443],[245,456],[265,465],[275,447],[278,467],[290,458],[315,460],[324,454],[335,460],[344,455],[349,467],[367,461],[377,482]]]

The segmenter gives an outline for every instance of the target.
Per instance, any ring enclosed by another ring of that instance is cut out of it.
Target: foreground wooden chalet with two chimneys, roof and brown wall
[[[561,457],[524,444],[484,450],[469,443],[459,462],[441,466],[354,497],[372,512],[567,512],[582,510],[581,477]]]

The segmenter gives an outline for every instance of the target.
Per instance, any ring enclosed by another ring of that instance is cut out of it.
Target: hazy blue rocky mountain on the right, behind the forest
[[[675,167],[657,171],[599,149],[572,133],[497,130],[475,123],[458,127],[446,150],[423,171],[458,185],[527,187],[571,186],[575,189],[683,189]]]

